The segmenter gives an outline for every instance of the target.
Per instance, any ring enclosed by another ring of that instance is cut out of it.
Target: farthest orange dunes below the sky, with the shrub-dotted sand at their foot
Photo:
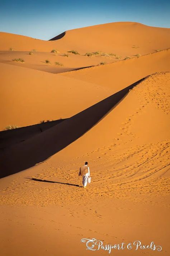
[[[100,62],[117,62],[126,56],[134,58],[136,54],[153,53],[167,49],[169,45],[168,28],[149,27],[134,22],[114,22],[69,30],[61,39],[55,41],[0,32],[0,62],[58,73],[99,65]],[[10,48],[13,50],[9,50]],[[29,55],[33,49],[37,52]],[[52,49],[57,49],[59,53],[51,53]],[[76,50],[79,54],[67,53],[70,50]],[[84,56],[87,52],[101,52],[104,55]],[[69,57],[64,57],[65,53]],[[109,53],[115,56],[109,56]],[[24,59],[24,63],[12,61],[15,58]],[[46,64],[46,60],[51,64]],[[63,66],[56,66],[55,62]]]

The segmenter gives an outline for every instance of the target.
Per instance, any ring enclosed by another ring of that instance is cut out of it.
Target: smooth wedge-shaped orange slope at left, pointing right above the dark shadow
[[[1,63],[0,69],[0,130],[67,118],[112,94],[99,85],[47,72]]]

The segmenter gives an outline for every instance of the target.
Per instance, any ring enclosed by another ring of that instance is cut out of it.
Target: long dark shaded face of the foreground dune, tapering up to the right
[[[67,147],[100,122],[130,89],[144,79],[138,80],[50,129],[5,149],[0,153],[0,177],[28,169]]]

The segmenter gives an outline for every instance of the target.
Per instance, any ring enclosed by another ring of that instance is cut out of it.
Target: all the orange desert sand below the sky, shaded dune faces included
[[[170,29],[135,22],[0,32],[2,256],[107,255],[92,238],[162,247],[110,255],[170,253],[169,47]]]

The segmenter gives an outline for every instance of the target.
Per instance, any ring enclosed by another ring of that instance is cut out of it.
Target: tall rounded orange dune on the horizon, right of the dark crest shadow
[[[76,47],[80,52],[101,50],[123,55],[146,54],[170,45],[170,29],[157,28],[136,22],[114,22],[66,31],[58,45]],[[56,41],[57,42],[57,41]],[[97,48],[97,49],[96,49]]]

